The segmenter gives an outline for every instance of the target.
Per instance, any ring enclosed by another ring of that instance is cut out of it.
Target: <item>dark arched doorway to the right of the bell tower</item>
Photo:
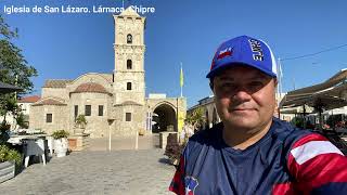
[[[177,131],[177,117],[172,106],[168,104],[160,104],[153,112],[152,132],[157,133],[162,131]]]

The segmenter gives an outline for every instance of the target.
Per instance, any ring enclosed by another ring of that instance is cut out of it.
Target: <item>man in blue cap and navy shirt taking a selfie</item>
[[[207,75],[221,122],[190,138],[176,194],[347,194],[347,159],[324,136],[273,117],[277,65],[269,46],[223,42]]]

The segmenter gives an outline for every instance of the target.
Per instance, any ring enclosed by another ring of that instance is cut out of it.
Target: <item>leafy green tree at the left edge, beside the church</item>
[[[11,29],[0,14],[0,81],[17,86],[23,89],[18,93],[0,94],[0,116],[4,116],[1,125],[7,126],[5,116],[11,113],[18,119],[21,107],[17,98],[31,92],[34,83],[30,77],[37,76],[37,70],[28,65],[13,40],[18,37],[18,30]],[[16,96],[15,96],[16,95]]]

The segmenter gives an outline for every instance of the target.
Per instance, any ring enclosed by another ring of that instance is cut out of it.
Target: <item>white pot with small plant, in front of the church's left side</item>
[[[52,133],[54,139],[54,151],[56,153],[56,157],[66,156],[67,153],[67,136],[69,133],[65,130],[57,130]]]

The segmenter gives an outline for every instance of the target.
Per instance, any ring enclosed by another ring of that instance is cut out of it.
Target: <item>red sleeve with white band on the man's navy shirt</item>
[[[312,143],[322,143],[323,145],[329,145],[329,147],[325,147],[324,152],[310,157],[310,154],[305,152],[314,153],[314,151],[321,150],[310,147],[309,145]],[[295,178],[295,188],[299,190],[300,193],[309,194],[312,190],[327,183],[347,182],[347,158],[342,154],[337,154],[336,151],[338,150],[333,145],[330,146],[330,144],[324,136],[313,133],[299,139],[293,144],[288,154],[287,167],[290,173]],[[304,146],[307,146],[307,148],[295,158],[292,152]],[[303,156],[306,156],[306,160],[299,161]]]

